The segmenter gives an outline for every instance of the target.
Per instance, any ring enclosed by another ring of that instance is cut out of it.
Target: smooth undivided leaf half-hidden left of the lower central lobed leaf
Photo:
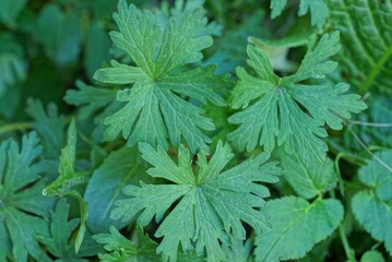
[[[145,170],[146,164],[140,158],[138,148],[123,146],[112,152],[94,171],[84,193],[88,209],[87,225],[93,233],[107,231],[109,225],[116,228],[127,225],[110,218],[114,203],[124,198],[121,194],[124,186],[136,184],[140,179],[145,180]]]

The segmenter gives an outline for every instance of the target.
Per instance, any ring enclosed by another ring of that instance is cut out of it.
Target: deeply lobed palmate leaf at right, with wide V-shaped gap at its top
[[[304,81],[324,79],[337,67],[329,58],[335,55],[338,33],[324,34],[317,43],[316,35],[308,40],[308,51],[298,69],[289,76],[278,78],[265,53],[248,46],[248,64],[257,76],[250,75],[243,68],[237,68],[239,81],[233,91],[231,107],[246,108],[233,115],[228,120],[240,124],[228,139],[240,150],[253,150],[258,144],[271,152],[283,145],[287,153],[298,152],[302,158],[323,160],[328,150],[322,141],[326,123],[334,130],[342,129],[343,119],[351,112],[360,112],[366,104],[355,94],[345,94],[348,85],[335,86],[319,81],[318,84],[305,84]],[[256,100],[248,107],[249,103]],[[305,111],[305,108],[307,111]]]

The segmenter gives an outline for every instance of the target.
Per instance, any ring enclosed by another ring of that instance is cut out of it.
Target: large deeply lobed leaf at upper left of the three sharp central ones
[[[211,139],[201,130],[214,130],[214,123],[183,97],[224,106],[225,100],[216,91],[224,91],[231,83],[228,75],[214,75],[214,66],[193,70],[185,67],[199,61],[200,51],[212,45],[210,36],[200,35],[206,24],[203,15],[201,8],[186,10],[183,17],[171,17],[162,28],[156,15],[120,0],[114,15],[119,32],[111,32],[110,36],[134,66],[112,61],[112,68],[98,70],[94,79],[132,87],[118,92],[117,100],[124,105],[106,118],[106,140],[121,132],[130,145],[141,141],[167,148],[167,136],[176,146],[183,138],[193,153],[209,151],[206,143]]]

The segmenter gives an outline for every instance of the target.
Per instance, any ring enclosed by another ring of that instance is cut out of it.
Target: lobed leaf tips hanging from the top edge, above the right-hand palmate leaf
[[[271,1],[271,17],[280,16],[287,4],[287,0],[272,0]],[[332,5],[333,7],[333,5]],[[319,28],[325,24],[330,14],[330,9],[324,0],[300,0],[298,15],[302,16],[310,11],[311,25]]]

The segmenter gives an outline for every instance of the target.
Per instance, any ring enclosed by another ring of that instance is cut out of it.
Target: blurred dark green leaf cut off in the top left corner
[[[16,19],[27,0],[1,0],[0,1],[0,21],[7,26],[15,27]]]

